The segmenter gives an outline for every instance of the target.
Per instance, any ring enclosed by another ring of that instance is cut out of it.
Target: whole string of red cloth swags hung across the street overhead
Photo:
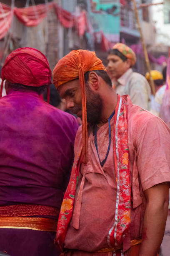
[[[10,29],[13,15],[15,15],[18,20],[23,23],[25,26],[37,26],[42,20],[46,17],[49,10],[54,8],[57,19],[60,20],[60,23],[65,28],[75,28],[78,36],[82,36],[85,32],[93,33],[96,43],[100,37],[100,47],[102,51],[108,51],[112,49],[114,43],[112,43],[101,31],[93,31],[92,25],[87,20],[87,15],[85,11],[82,11],[80,15],[75,15],[67,10],[62,9],[55,3],[47,3],[40,5],[33,5],[26,8],[10,8],[3,3],[0,3],[0,39],[2,39]],[[140,53],[143,55],[143,49],[140,44],[135,44],[130,46],[135,53]],[[158,59],[155,58],[152,54],[148,54],[149,59],[153,63],[163,65],[163,62],[167,62],[165,56],[160,56]]]

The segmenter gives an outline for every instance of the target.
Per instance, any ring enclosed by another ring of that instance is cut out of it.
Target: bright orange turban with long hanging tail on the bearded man
[[[97,58],[95,52],[86,50],[75,50],[64,56],[56,64],[53,70],[53,83],[58,88],[62,84],[74,79],[79,79],[82,95],[82,154],[83,162],[87,162],[87,111],[85,95],[84,74],[88,71],[104,70],[102,61]]]

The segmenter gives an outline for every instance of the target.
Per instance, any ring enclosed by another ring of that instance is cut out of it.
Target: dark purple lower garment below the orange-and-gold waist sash
[[[59,256],[55,232],[29,229],[0,229],[0,251],[10,256]]]

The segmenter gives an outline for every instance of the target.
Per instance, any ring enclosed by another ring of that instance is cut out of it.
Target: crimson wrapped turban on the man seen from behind
[[[51,70],[44,54],[37,49],[23,47],[7,56],[2,67],[1,78],[0,97],[2,97],[4,80],[32,87],[49,85],[51,84]],[[47,94],[49,95],[49,90]]]

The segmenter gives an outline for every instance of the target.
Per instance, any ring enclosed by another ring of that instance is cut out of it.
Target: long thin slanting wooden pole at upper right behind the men
[[[139,13],[138,13],[138,8],[136,6],[136,0],[133,0],[133,4],[134,4],[134,8],[135,8],[136,21],[138,23],[138,29],[139,29],[140,37],[141,37],[141,41],[142,41],[146,66],[147,66],[148,72],[150,74],[150,62],[149,62],[149,58],[148,58],[148,52],[147,52],[147,49],[146,49],[145,41],[144,41],[144,38],[143,38],[142,28],[140,26]],[[151,74],[150,74],[150,87],[151,87],[151,90],[153,92],[153,95],[155,95],[155,85],[154,85],[153,78],[152,78]]]

